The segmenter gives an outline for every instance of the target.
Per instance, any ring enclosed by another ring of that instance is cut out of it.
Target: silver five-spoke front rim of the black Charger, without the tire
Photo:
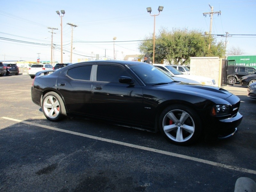
[[[185,111],[175,109],[168,112],[163,119],[164,133],[175,142],[189,140],[195,132],[195,123]]]

